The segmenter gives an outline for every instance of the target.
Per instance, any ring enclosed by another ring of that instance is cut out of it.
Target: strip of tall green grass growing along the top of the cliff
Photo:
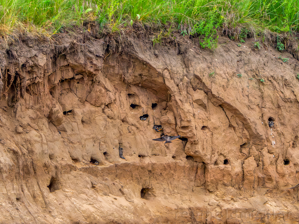
[[[132,22],[172,23],[183,34],[219,27],[235,34],[242,27],[291,32],[299,30],[299,0],[0,0],[2,39],[24,32],[51,37],[92,21],[110,32],[130,29]]]

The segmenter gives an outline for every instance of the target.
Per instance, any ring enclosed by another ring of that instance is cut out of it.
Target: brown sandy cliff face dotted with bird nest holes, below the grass
[[[1,223],[298,223],[298,60],[227,40],[2,51]]]

